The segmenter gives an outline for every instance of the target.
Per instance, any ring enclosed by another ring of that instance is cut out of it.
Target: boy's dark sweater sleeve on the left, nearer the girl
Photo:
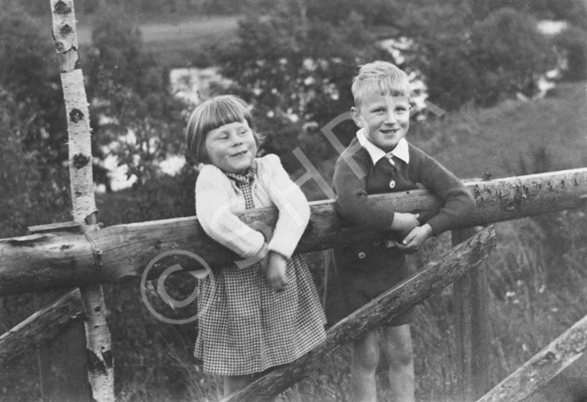
[[[337,210],[353,224],[378,231],[389,230],[395,212],[367,197],[367,163],[371,163],[371,160],[368,155],[365,157],[365,155],[359,155],[359,152],[349,155],[348,151],[345,151],[334,168],[333,184],[336,191]],[[363,174],[352,169],[349,162],[356,163]]]

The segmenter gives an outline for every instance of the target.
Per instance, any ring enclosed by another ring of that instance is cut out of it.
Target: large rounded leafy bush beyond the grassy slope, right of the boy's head
[[[531,16],[499,8],[474,21],[466,5],[453,11],[451,17],[437,13],[440,19],[432,22],[433,29],[414,25],[425,54],[415,63],[433,104],[456,110],[467,103],[495,105],[518,92],[533,96],[540,77],[556,66],[556,55]]]

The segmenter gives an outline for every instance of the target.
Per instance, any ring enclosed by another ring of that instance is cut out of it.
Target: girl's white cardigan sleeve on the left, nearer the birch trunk
[[[238,201],[232,192],[230,179],[222,171],[212,165],[202,168],[196,181],[197,220],[212,239],[248,258],[261,251],[264,236],[232,212]]]

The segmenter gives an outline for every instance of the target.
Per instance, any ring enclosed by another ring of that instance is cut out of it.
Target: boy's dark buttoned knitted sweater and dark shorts
[[[408,146],[409,163],[394,158],[395,164],[391,164],[388,159],[382,158],[373,165],[371,155],[357,142],[356,138],[353,139],[340,155],[333,179],[338,212],[348,222],[372,230],[390,230],[395,211],[373,202],[367,196],[415,188],[431,189],[444,201],[438,214],[422,214],[419,218],[421,223],[430,224],[434,235],[448,230],[474,210],[474,199],[461,180],[417,147]],[[356,174],[357,167],[364,174]],[[338,247],[334,249],[334,260],[336,286],[331,287],[327,303],[331,323],[339,321],[408,276],[406,256],[395,247],[373,244]],[[400,325],[411,320],[412,314],[408,312],[391,324]]]

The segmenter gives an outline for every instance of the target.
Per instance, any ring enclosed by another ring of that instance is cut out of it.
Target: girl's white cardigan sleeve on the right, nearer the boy
[[[298,185],[289,179],[277,155],[265,155],[262,161],[259,178],[279,210],[268,249],[290,258],[306,230],[310,206]]]

